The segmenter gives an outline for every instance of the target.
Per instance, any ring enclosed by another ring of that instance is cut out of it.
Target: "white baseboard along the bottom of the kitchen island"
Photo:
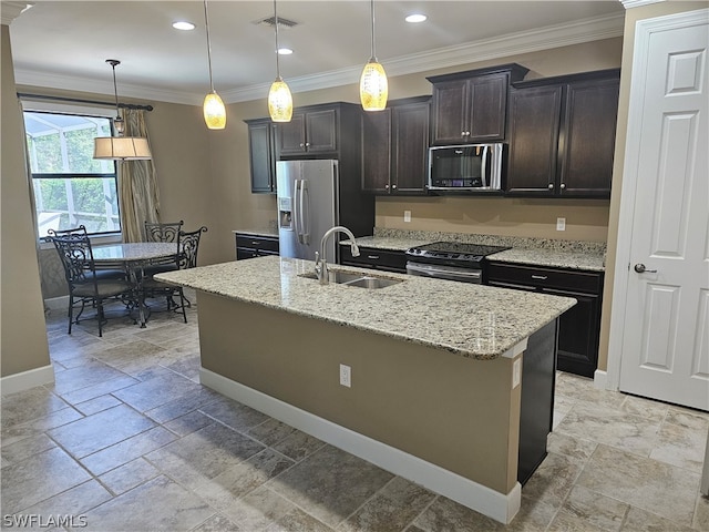
[[[224,396],[362,458],[391,473],[448,497],[495,521],[507,524],[520,510],[522,503],[520,482],[515,483],[510,493],[499,493],[413,454],[336,424],[208,369],[199,369],[199,381]]]

